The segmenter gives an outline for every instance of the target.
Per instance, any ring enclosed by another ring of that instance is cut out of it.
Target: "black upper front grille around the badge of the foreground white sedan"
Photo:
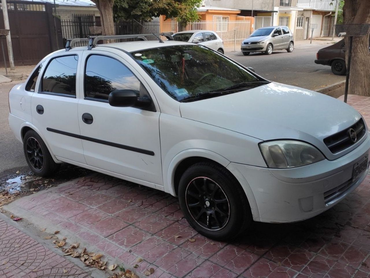
[[[356,132],[356,140],[353,141],[350,137],[350,130],[353,129]],[[359,141],[366,133],[364,120],[361,118],[357,123],[338,132],[332,136],[324,139],[325,145],[329,148],[330,152],[337,153],[355,144]]]

